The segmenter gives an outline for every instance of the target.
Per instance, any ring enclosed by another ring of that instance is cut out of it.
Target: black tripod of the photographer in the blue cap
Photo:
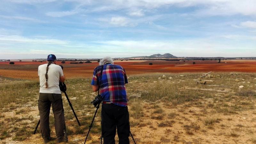
[[[65,94],[65,96],[66,96],[66,98],[67,98],[67,100],[68,100],[69,106],[71,107],[71,109],[72,109],[72,111],[73,111],[73,114],[74,114],[74,116],[76,117],[76,121],[77,121],[78,125],[81,126],[81,124],[80,124],[80,122],[79,122],[79,120],[78,120],[78,118],[77,118],[77,116],[76,116],[75,110],[74,110],[74,108],[72,107],[72,104],[71,104],[71,102],[70,102],[70,100],[69,100],[69,98],[68,98],[68,95],[67,95],[67,93],[66,93],[66,90],[67,90],[66,84],[60,82],[60,83],[59,83],[59,86],[60,86],[60,90],[61,90],[62,92],[64,92],[64,94]],[[36,128],[35,128],[33,134],[36,134],[36,130],[37,130],[39,124],[40,124],[40,119],[39,119],[39,121],[38,121],[38,123],[37,123],[37,125],[36,125]],[[65,124],[64,126],[65,126],[65,127],[64,127],[65,138],[66,138],[66,140],[68,141],[68,135],[67,135],[66,124]]]

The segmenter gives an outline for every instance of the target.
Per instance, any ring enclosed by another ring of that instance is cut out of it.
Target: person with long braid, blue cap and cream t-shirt
[[[51,140],[49,127],[51,105],[57,142],[64,141],[65,117],[59,81],[64,82],[65,76],[61,67],[56,65],[56,61],[56,56],[49,54],[47,56],[47,63],[38,67],[40,80],[38,109],[40,114],[40,131],[44,143],[48,143]]]

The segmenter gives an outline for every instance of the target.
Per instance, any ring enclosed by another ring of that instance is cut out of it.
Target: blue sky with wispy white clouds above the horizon
[[[256,57],[255,0],[0,2],[0,59]]]

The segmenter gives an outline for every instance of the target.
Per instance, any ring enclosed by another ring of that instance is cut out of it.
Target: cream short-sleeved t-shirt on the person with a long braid
[[[40,65],[38,67],[38,76],[40,80],[40,91],[41,93],[57,93],[60,94],[59,81],[60,76],[63,76],[63,71],[60,66],[55,64],[50,64],[48,68],[48,88],[45,88],[46,83],[46,67],[47,64]]]

